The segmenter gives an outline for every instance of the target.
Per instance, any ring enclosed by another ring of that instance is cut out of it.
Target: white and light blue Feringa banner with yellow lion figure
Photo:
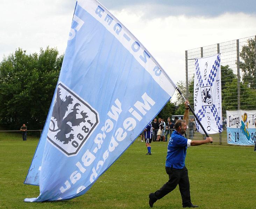
[[[232,145],[255,145],[256,110],[227,111],[227,142]]]

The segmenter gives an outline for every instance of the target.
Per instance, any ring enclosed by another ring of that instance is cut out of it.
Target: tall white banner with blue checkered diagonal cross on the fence
[[[208,134],[222,132],[220,54],[195,59],[194,112]]]

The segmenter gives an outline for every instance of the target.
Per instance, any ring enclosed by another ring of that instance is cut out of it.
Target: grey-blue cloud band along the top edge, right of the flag
[[[155,16],[206,16],[215,17],[225,13],[256,15],[255,0],[100,0],[107,9],[143,10],[148,18]]]

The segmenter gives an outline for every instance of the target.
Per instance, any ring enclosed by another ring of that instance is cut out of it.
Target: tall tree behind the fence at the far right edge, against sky
[[[242,47],[239,66],[242,69],[243,82],[248,83],[251,88],[256,88],[256,65],[255,65],[255,40],[247,40],[248,45]]]

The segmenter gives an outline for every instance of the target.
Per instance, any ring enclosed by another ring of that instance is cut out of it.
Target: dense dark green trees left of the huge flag
[[[21,48],[0,63],[0,124],[42,129],[58,81],[63,55],[47,47],[26,54]]]

